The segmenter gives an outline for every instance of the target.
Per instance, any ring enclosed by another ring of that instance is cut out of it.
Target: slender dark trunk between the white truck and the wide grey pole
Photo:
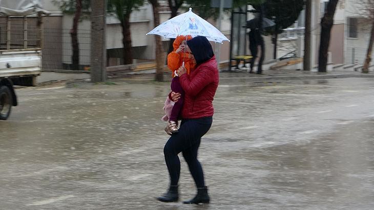
[[[70,30],[71,46],[73,48],[72,69],[79,70],[79,43],[78,43],[78,22],[82,13],[82,0],[76,0],[76,11],[73,18],[73,28]]]

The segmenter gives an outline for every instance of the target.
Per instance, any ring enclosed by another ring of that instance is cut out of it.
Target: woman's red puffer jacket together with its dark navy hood
[[[179,78],[184,90],[181,112],[184,119],[210,117],[214,114],[213,98],[219,83],[217,61],[209,41],[200,37],[187,42],[198,66],[190,74],[182,74]]]

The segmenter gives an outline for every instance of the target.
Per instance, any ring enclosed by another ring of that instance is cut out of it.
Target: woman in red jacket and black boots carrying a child
[[[213,121],[212,101],[219,81],[217,61],[211,44],[203,36],[188,40],[186,52],[195,60],[196,68],[191,70],[190,74],[186,74],[183,67],[177,71],[185,94],[181,111],[182,122],[179,132],[169,138],[163,149],[170,175],[170,187],[167,193],[157,199],[162,202],[178,201],[178,154],[181,152],[197,187],[197,195],[183,203],[209,203],[210,198],[204,183],[202,167],[197,160],[197,152],[201,137],[209,131]],[[179,96],[179,93],[171,94],[174,101],[177,101]]]

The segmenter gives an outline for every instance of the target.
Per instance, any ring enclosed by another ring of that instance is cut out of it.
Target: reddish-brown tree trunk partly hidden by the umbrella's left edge
[[[149,0],[153,8],[153,19],[155,27],[160,25],[160,16],[159,16],[159,5],[156,0]],[[164,54],[161,37],[156,35],[156,81],[163,81],[163,67],[164,67]]]

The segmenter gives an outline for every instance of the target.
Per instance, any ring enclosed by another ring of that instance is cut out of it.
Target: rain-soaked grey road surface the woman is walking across
[[[202,139],[211,204],[161,203],[169,82],[17,89],[0,121],[1,209],[372,209],[374,78],[222,73]],[[195,194],[181,157],[181,200]]]

